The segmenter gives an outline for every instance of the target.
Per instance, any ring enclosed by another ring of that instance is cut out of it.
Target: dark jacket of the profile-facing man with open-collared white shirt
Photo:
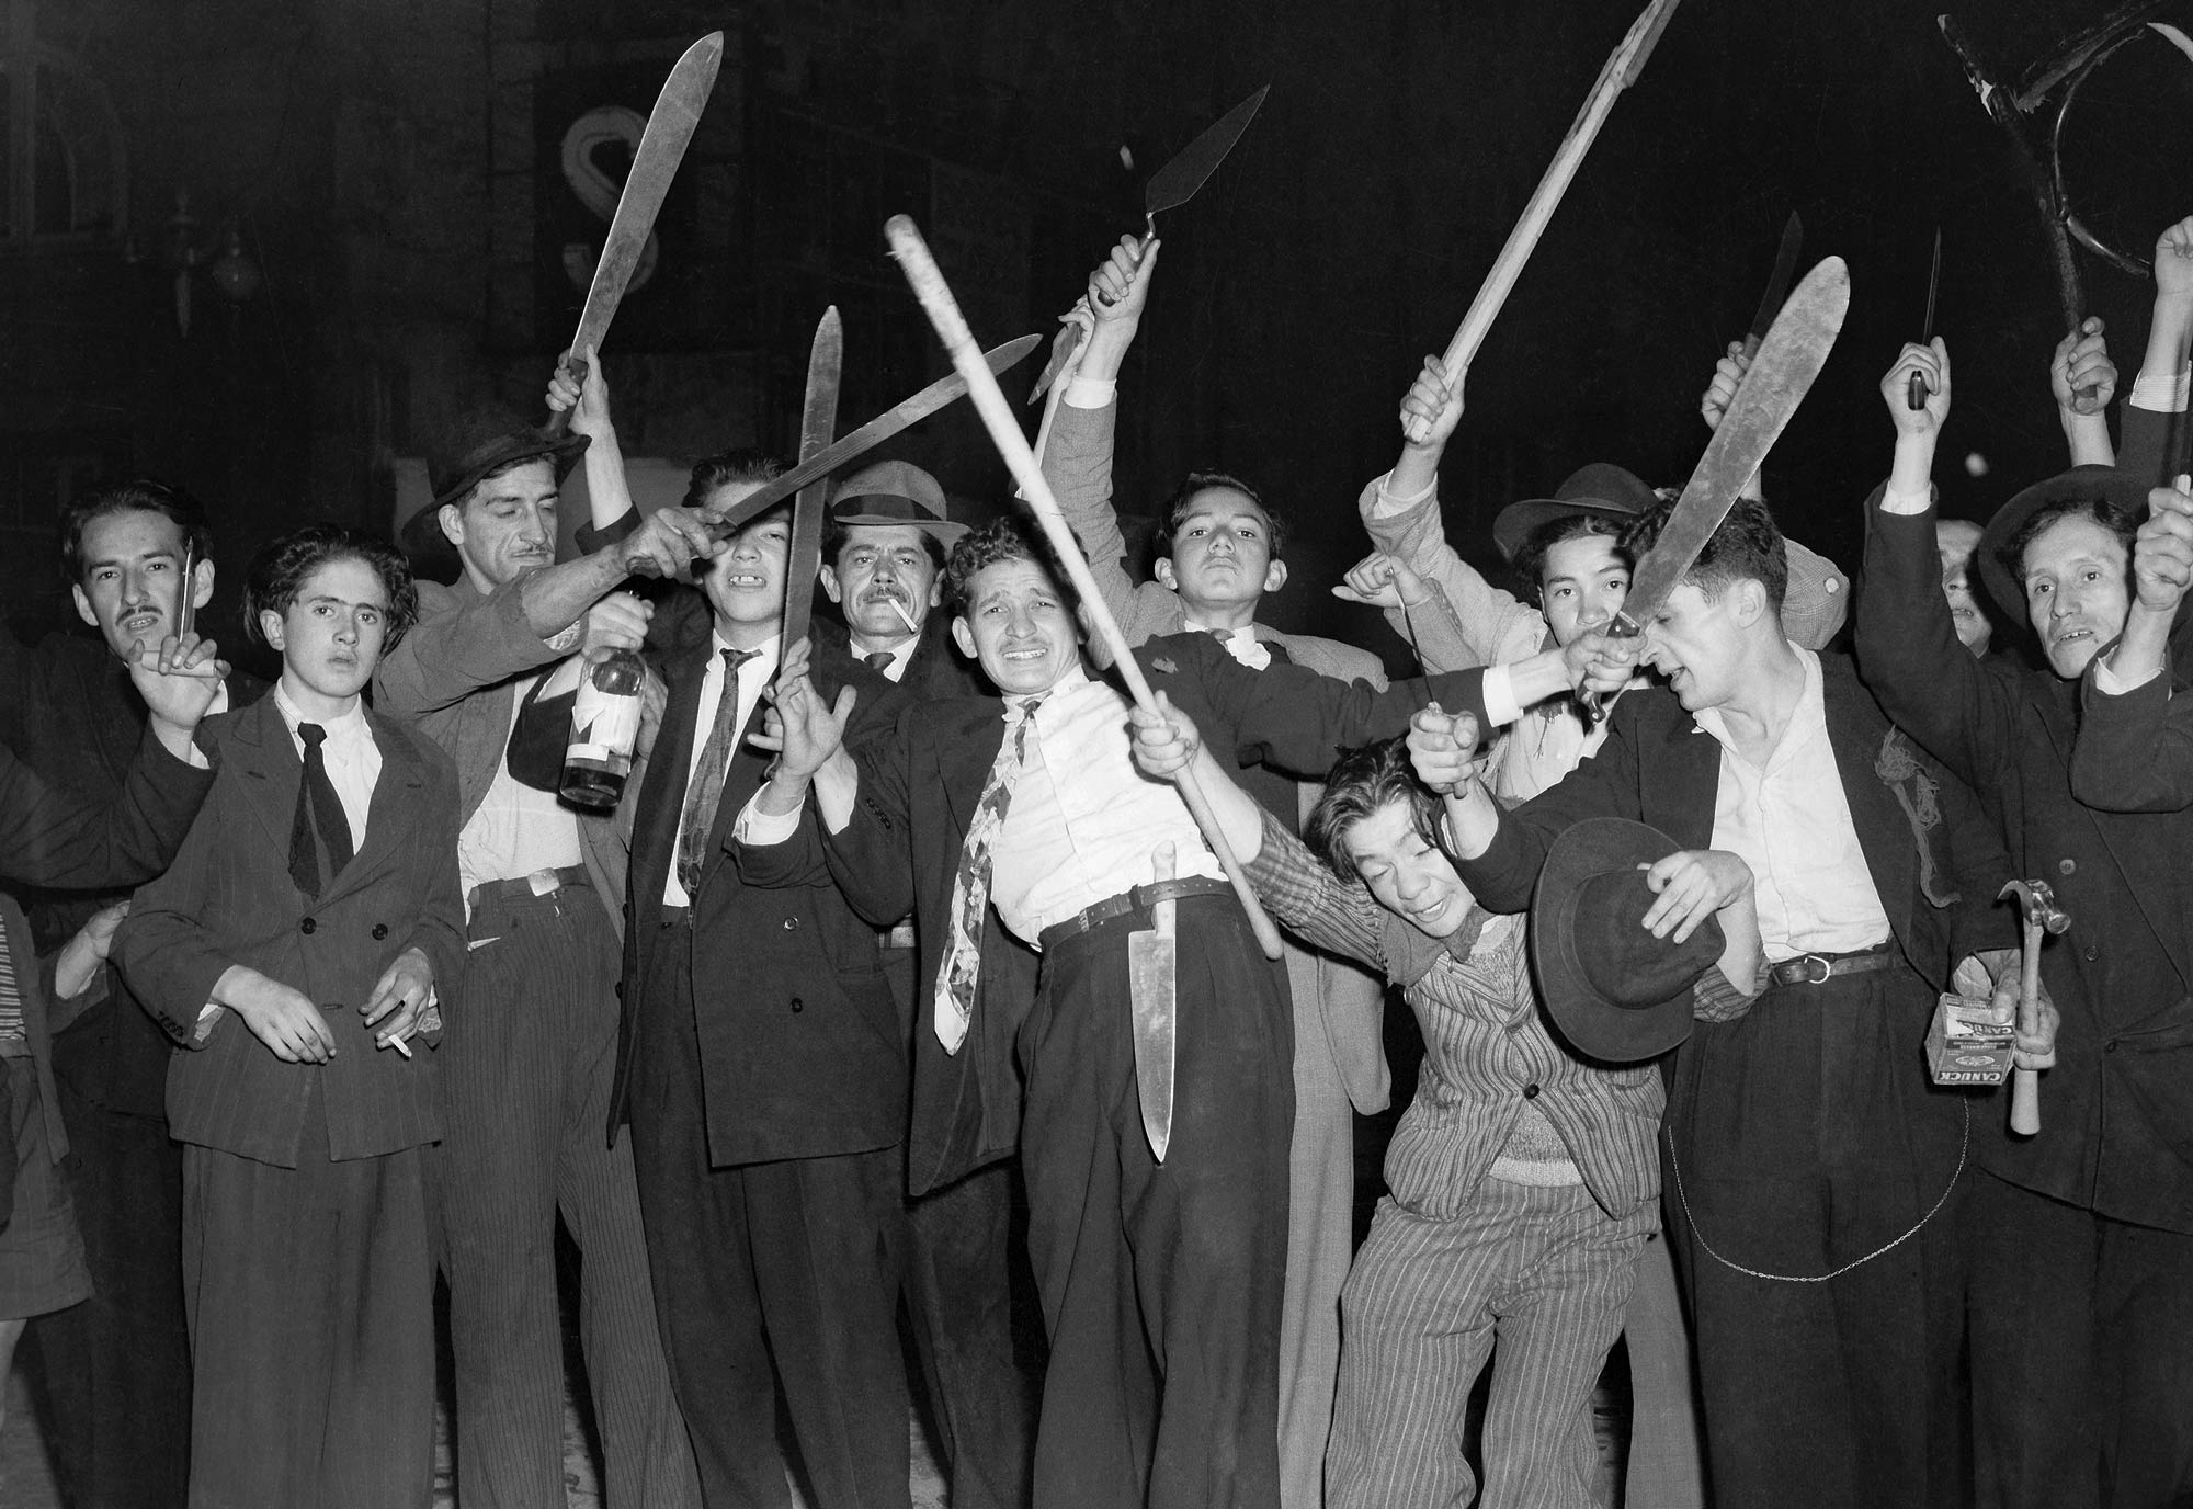
[[[1847,656],[1822,654],[1820,682],[1842,794],[1888,928],[1906,963],[1934,989],[1947,989],[1958,958],[2015,941],[2009,919],[1991,910],[2009,864],[1972,792],[1890,728]],[[1599,754],[1504,814],[1491,847],[1458,869],[1489,910],[1522,912],[1546,849],[1575,822],[1629,818],[1684,849],[1711,849],[1719,790],[1719,739],[1700,730],[1673,693],[1632,691],[1614,704]],[[1914,1075],[1923,1073],[1923,1035],[1925,1022],[1914,1022]]]

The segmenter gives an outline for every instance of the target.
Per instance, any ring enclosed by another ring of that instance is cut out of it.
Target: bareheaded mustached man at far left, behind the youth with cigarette
[[[178,634],[213,599],[204,504],[149,478],[101,487],[61,513],[61,572],[96,638],[53,634],[24,649],[0,636],[0,722],[15,752],[90,796],[112,796],[145,737],[132,684],[136,645]],[[230,676],[208,713],[254,700]],[[31,932],[53,950],[127,893],[24,893]],[[55,1472],[75,1502],[160,1509],[191,1465],[191,1338],[182,1318],[182,1149],[167,1134],[160,1024],[118,980],[53,1037],[53,1083],[68,1127],[68,1178],[92,1296],[35,1327],[53,1404]]]

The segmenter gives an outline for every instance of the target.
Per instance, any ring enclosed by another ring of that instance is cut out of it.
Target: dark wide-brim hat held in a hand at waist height
[[[1691,985],[1728,948],[1722,923],[1708,917],[1682,943],[1640,926],[1654,904],[1640,866],[1680,847],[1645,822],[1586,818],[1546,853],[1531,965],[1546,1016],[1586,1057],[1636,1064],[1691,1035]]]

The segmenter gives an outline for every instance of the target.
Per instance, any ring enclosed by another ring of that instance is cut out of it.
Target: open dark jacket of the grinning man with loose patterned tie
[[[1338,750],[1399,735],[1430,700],[1482,715],[1480,671],[1377,691],[1298,665],[1250,671],[1208,634],[1136,651],[1151,687],[1189,715],[1213,754],[1235,768],[1272,765],[1298,779],[1331,770]],[[961,844],[1004,744],[996,697],[908,708],[888,739],[860,752],[860,801],[842,833],[818,838],[846,897],[875,923],[917,915],[917,985],[934,980],[950,937]],[[809,809],[811,814],[811,809]],[[809,820],[805,831],[814,831]],[[787,847],[789,849],[789,847]],[[908,1187],[914,1195],[1004,1158],[1020,1136],[1013,1037],[1035,1002],[1035,954],[989,910],[967,1042],[947,1055],[914,1009],[914,1105]]]

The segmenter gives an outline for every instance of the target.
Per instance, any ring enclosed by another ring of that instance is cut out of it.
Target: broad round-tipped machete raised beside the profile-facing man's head
[[[1660,537],[1629,572],[1629,592],[1607,634],[1616,638],[1643,634],[1684,572],[1697,564],[1713,531],[1728,518],[1743,485],[1759,472],[1759,463],[1774,450],[1796,406],[1805,401],[1814,377],[1827,366],[1827,353],[1836,349],[1849,309],[1851,270],[1840,257],[1829,257],[1807,272],[1789,294],[1789,303],[1759,342],[1752,371],[1713,430],[1706,454],[1697,458],[1697,469],[1667,515]],[[1581,704],[1592,722],[1605,717],[1601,697],[1588,693]]]

